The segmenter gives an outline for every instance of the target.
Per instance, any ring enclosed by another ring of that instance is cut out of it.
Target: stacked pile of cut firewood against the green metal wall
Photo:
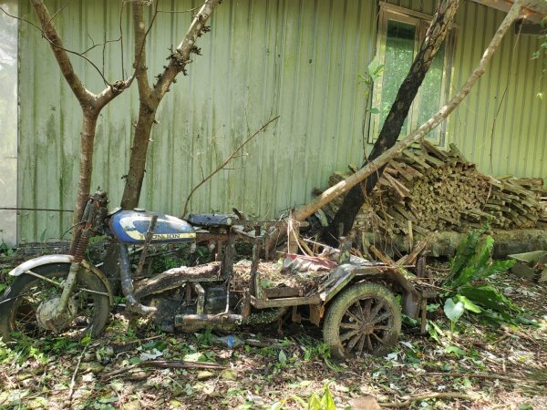
[[[349,173],[335,173],[333,186]],[[481,174],[453,144],[448,151],[427,141],[391,160],[366,199],[355,231],[426,235],[428,231],[467,231],[490,219],[492,228],[524,229],[547,224],[540,204],[543,181],[495,179]],[[324,210],[334,216],[343,197]],[[547,208],[547,198],[545,199]]]

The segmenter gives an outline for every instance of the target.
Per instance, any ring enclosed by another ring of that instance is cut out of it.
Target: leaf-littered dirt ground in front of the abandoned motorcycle
[[[228,349],[215,333],[160,333],[118,309],[88,343],[0,345],[0,408],[328,408],[306,407],[325,386],[340,409],[377,408],[359,407],[365,396],[399,408],[547,408],[547,289],[510,274],[495,281],[537,326],[491,327],[466,314],[450,333],[438,309],[428,313],[437,340],[405,326],[392,354],[347,362],[329,357],[313,325],[242,329],[234,335],[243,344]],[[222,368],[152,368],[147,360]]]

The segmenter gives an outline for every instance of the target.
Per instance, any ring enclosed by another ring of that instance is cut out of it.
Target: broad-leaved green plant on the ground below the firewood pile
[[[516,323],[521,320],[521,308],[484,279],[506,272],[515,261],[492,261],[494,240],[485,234],[486,229],[470,231],[456,250],[451,270],[445,280],[447,298],[444,312],[452,323],[463,313],[477,313],[490,322]]]

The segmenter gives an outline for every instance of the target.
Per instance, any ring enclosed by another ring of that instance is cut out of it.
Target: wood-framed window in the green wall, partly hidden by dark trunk
[[[380,3],[378,23],[377,57],[383,70],[374,85],[371,133],[369,142],[374,142],[384,125],[389,109],[397,96],[408,70],[418,53],[426,35],[431,17],[410,10]],[[415,130],[448,100],[450,67],[454,48],[452,28],[439,53],[435,56],[428,74],[419,88],[418,95],[408,112],[408,118],[401,129],[402,138]],[[436,145],[444,144],[446,125],[432,130],[426,138]]]

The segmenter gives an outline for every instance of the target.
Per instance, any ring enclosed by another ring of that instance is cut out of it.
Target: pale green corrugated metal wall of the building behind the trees
[[[435,5],[433,0],[394,3],[428,14]],[[48,5],[56,11],[67,3]],[[181,11],[197,5],[171,0],[160,8]],[[66,46],[87,49],[101,43],[105,33],[116,39],[121,26],[129,70],[131,25],[127,11],[119,20],[119,7],[120,2],[107,0],[68,3],[56,17]],[[27,2],[20,8],[22,16],[34,19]],[[484,6],[462,3],[455,89],[479,61],[502,17]],[[190,14],[160,13],[150,32],[150,77],[160,73],[169,46],[180,42],[190,20]],[[374,56],[376,20],[377,4],[368,0],[225,1],[212,17],[212,33],[200,39],[203,56],[194,59],[190,75],[179,77],[160,105],[140,205],[179,214],[187,192],[202,175],[277,115],[281,118],[247,146],[245,155],[196,192],[192,210],[237,207],[270,217],[309,200],[311,190],[324,188],[333,170],[360,163],[367,119],[365,88],[357,74],[365,72]],[[533,95],[537,87],[545,88],[545,80],[529,61],[535,38],[521,37],[516,47],[515,41],[515,36],[504,41],[493,74],[481,80],[451,118],[448,139],[480,161],[481,169],[489,170],[491,151],[495,174],[535,176],[543,172],[547,124],[545,103]],[[104,69],[110,79],[121,77],[119,50],[119,42],[105,49]],[[77,185],[79,108],[35,28],[21,25],[19,54],[19,206],[70,209]],[[88,56],[103,67],[102,47]],[[73,61],[88,88],[98,92],[104,87],[92,67],[79,58]],[[123,189],[137,107],[136,88],[126,91],[104,109],[98,126],[94,183],[110,192],[113,204]],[[512,115],[515,108],[520,115]],[[514,142],[517,136],[525,142]],[[522,162],[532,154],[533,159]],[[509,159],[498,160],[505,157]],[[26,212],[19,218],[19,239],[58,238],[69,224],[68,213],[61,218],[57,212]]]

